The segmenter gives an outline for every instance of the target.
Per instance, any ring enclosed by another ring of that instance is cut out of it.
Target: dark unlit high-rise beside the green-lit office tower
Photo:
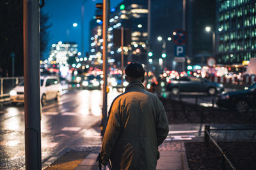
[[[206,31],[206,27],[207,31]],[[191,64],[207,65],[214,57],[216,32],[216,1],[186,1],[186,31],[188,32],[187,56]]]

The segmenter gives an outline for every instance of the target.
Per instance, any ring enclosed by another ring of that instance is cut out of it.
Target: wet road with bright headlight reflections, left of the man
[[[108,107],[120,93],[108,94]],[[101,143],[101,90],[77,90],[42,108],[42,163],[67,147]],[[25,162],[24,106],[0,108],[0,169],[19,169]]]

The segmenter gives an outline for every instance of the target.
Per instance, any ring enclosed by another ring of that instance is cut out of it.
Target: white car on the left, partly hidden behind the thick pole
[[[59,101],[62,87],[56,76],[41,76],[40,85],[40,97],[42,105],[51,99]],[[19,85],[11,90],[10,99],[13,104],[24,103],[24,81],[19,83]]]

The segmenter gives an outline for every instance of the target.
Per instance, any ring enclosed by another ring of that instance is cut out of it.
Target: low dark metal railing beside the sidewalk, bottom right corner
[[[218,148],[218,150],[220,151],[221,155],[223,156],[223,159],[221,160],[222,164],[221,164],[221,169],[226,169],[225,167],[225,162],[228,163],[228,165],[232,168],[232,169],[236,169],[236,167],[234,166],[234,164],[231,162],[231,160],[229,159],[227,153],[220,147],[220,145],[218,145],[218,143],[216,142],[216,140],[214,140],[214,138],[211,136],[211,132],[218,132],[218,131],[256,131],[255,128],[237,128],[237,129],[211,129],[210,125],[205,125],[205,131],[204,131],[204,142],[205,142],[205,146],[209,146],[209,142],[211,141],[214,146],[216,146],[216,148]]]

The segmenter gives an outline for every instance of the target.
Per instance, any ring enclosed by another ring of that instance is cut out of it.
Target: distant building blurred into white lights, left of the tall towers
[[[75,58],[77,56],[77,46],[78,45],[76,43],[62,43],[61,41],[56,44],[52,44],[48,61],[60,65],[67,64],[70,57]]]

